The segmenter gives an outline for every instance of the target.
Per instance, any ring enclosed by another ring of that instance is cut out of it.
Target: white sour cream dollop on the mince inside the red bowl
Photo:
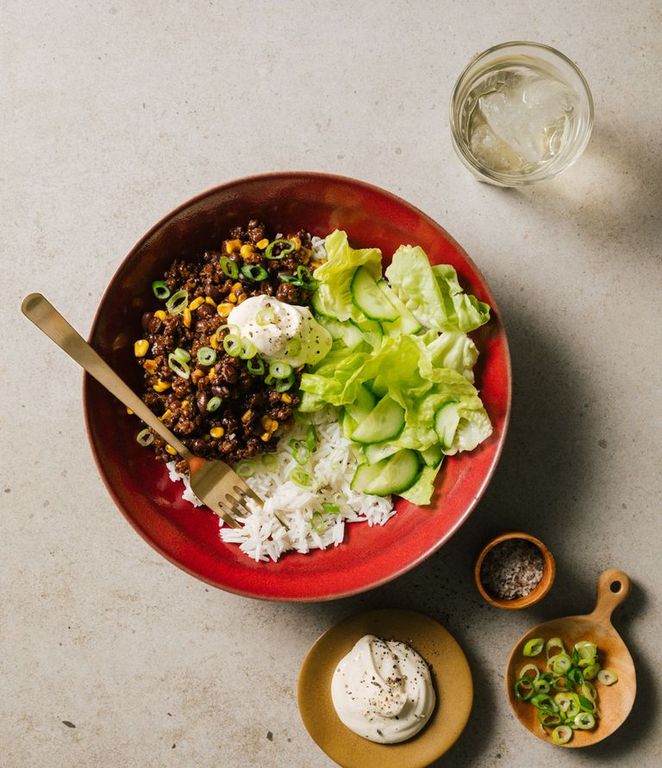
[[[273,296],[252,296],[228,315],[243,339],[252,341],[267,360],[299,368],[316,363],[331,349],[331,334],[307,307],[297,307]]]

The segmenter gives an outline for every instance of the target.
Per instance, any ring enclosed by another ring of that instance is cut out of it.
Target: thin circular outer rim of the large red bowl
[[[473,259],[467,254],[467,252],[462,248],[462,246],[459,245],[459,243],[446,231],[444,227],[442,227],[440,224],[438,224],[434,219],[432,219],[430,216],[428,216],[426,213],[424,213],[420,208],[413,205],[412,203],[408,202],[404,198],[393,194],[392,192],[389,192],[388,190],[383,189],[382,187],[378,187],[375,184],[372,184],[370,182],[363,181],[361,179],[356,179],[351,176],[343,176],[340,174],[333,174],[333,173],[324,173],[324,172],[318,172],[318,171],[270,171],[267,173],[256,173],[251,174],[248,176],[241,176],[236,179],[231,179],[230,181],[223,182],[221,184],[217,184],[213,187],[209,187],[208,189],[194,195],[193,197],[189,198],[185,202],[178,205],[176,208],[172,209],[168,213],[166,213],[164,216],[162,216],[153,226],[149,228],[149,230],[142,235],[135,243],[134,245],[129,249],[127,254],[124,256],[120,264],[118,265],[117,269],[111,276],[108,284],[106,285],[106,288],[103,291],[103,294],[101,295],[101,298],[99,299],[97,308],[94,313],[94,318],[92,320],[92,325],[90,327],[90,331],[87,336],[87,340],[92,345],[92,340],[97,332],[97,328],[101,319],[101,308],[103,307],[106,298],[111,290],[111,286],[117,281],[118,278],[121,277],[122,273],[125,269],[127,269],[130,260],[134,257],[135,253],[162,227],[164,227],[171,219],[175,218],[177,215],[179,215],[182,211],[186,210],[187,208],[191,207],[197,202],[200,202],[204,200],[207,197],[210,197],[211,195],[214,195],[220,191],[231,189],[233,187],[241,186],[248,183],[253,182],[259,182],[259,181],[269,181],[269,180],[301,180],[301,179],[318,179],[321,181],[327,181],[331,183],[340,183],[340,184],[349,184],[349,185],[359,185],[365,189],[368,189],[376,194],[379,194],[385,198],[390,199],[393,202],[396,202],[400,205],[404,205],[405,207],[413,210],[416,212],[418,216],[420,216],[422,219],[424,219],[426,222],[428,222],[432,227],[441,230],[443,232],[444,237],[448,240],[449,243],[453,245],[453,247],[458,251],[458,253],[461,254],[462,258],[470,265],[470,267],[475,271],[476,275],[480,279],[485,292],[487,293],[488,298],[490,299],[490,307],[492,309],[492,312],[496,314],[496,316],[499,319],[499,322],[501,324],[501,327],[503,329],[503,352],[505,357],[505,368],[507,373],[507,387],[506,387],[506,397],[505,397],[505,409],[504,409],[504,415],[503,415],[503,426],[501,430],[501,435],[498,441],[498,444],[495,447],[494,456],[492,458],[492,461],[490,463],[490,466],[485,473],[481,484],[479,488],[477,489],[475,495],[471,499],[470,503],[467,505],[466,509],[464,510],[464,513],[454,522],[452,526],[450,526],[432,546],[430,546],[427,550],[422,552],[418,557],[414,558],[411,562],[403,565],[401,568],[394,570],[393,572],[389,573],[386,576],[376,578],[368,584],[360,585],[357,587],[352,587],[350,589],[346,589],[342,592],[336,592],[333,594],[322,594],[322,595],[305,595],[305,596],[288,596],[288,597],[282,597],[277,595],[264,595],[264,594],[255,594],[253,592],[244,591],[242,589],[238,589],[236,587],[229,587],[226,585],[220,585],[211,578],[207,578],[206,576],[203,576],[202,574],[198,573],[197,571],[194,571],[190,568],[188,568],[186,565],[180,563],[174,557],[170,556],[155,540],[152,536],[149,535],[149,533],[144,530],[142,527],[140,527],[133,519],[133,517],[129,514],[129,512],[124,508],[124,505],[121,503],[118,494],[115,492],[115,489],[113,485],[110,482],[110,478],[105,470],[105,467],[103,466],[103,463],[101,462],[100,456],[97,452],[97,448],[95,445],[95,442],[92,438],[92,425],[91,425],[91,415],[90,415],[90,408],[89,408],[89,386],[92,382],[92,377],[84,373],[83,374],[83,412],[84,412],[84,419],[85,419],[85,430],[87,433],[88,442],[90,443],[91,449],[92,449],[92,455],[94,457],[94,462],[97,467],[97,471],[99,473],[99,476],[101,477],[106,490],[110,494],[110,497],[115,502],[115,506],[120,510],[122,515],[125,517],[125,519],[129,522],[131,527],[141,536],[141,538],[149,544],[150,547],[152,547],[154,550],[156,550],[162,557],[164,557],[168,562],[172,563],[173,565],[177,566],[180,570],[184,571],[185,573],[188,573],[190,576],[195,577],[196,579],[209,584],[210,586],[215,587],[216,589],[222,589],[225,592],[229,592],[232,594],[239,595],[240,597],[249,597],[256,600],[266,600],[270,602],[299,602],[299,603],[309,603],[309,602],[327,602],[330,600],[339,600],[345,597],[351,597],[353,595],[362,594],[364,592],[368,592],[370,590],[376,589],[377,587],[383,586],[384,584],[387,584],[391,581],[394,581],[395,579],[399,578],[400,576],[403,576],[405,573],[408,573],[409,571],[416,568],[418,565],[423,563],[425,560],[427,560],[429,557],[431,557],[435,552],[437,552],[441,547],[450,539],[452,536],[464,525],[464,523],[467,521],[473,510],[476,508],[478,502],[485,494],[485,491],[487,490],[492,477],[494,476],[494,472],[496,471],[496,468],[499,464],[499,460],[501,458],[501,453],[503,451],[504,444],[506,442],[506,438],[508,435],[508,427],[510,424],[510,415],[512,410],[512,362],[511,362],[511,356],[510,356],[510,347],[508,344],[508,336],[506,333],[505,324],[503,322],[503,319],[501,317],[501,313],[498,309],[498,306],[496,302],[494,301],[494,297],[492,296],[492,292],[490,290],[489,284],[485,280],[485,277],[483,276],[483,273],[480,271],[480,269],[476,266]]]

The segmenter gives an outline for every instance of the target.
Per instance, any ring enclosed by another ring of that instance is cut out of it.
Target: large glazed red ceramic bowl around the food
[[[237,594],[270,600],[329,600],[363,592],[425,560],[467,519],[485,491],[503,445],[510,411],[510,357],[494,298],[471,259],[434,221],[394,195],[353,179],[319,173],[253,176],[195,197],[168,214],[132,249],[101,300],[90,341],[137,391],[132,357],[142,312],[153,306],[152,280],[175,258],[195,258],[249,218],[272,231],[305,228],[324,236],[347,231],[357,247],[378,246],[385,261],[401,243],[421,245],[434,263],[452,264],[462,285],[492,307],[474,335],[480,350],[477,386],[494,433],[470,454],[450,457],[431,507],[398,500],[384,527],[348,525],[345,542],[278,563],[255,563],[219,537],[218,518],[180,498],[165,467],[135,442],[138,422],[90,377],[85,378],[87,427],[99,472],[138,533],[188,573]]]

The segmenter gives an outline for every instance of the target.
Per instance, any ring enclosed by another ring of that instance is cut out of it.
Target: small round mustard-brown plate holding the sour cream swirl
[[[375,744],[357,736],[342,724],[331,701],[338,662],[366,634],[409,643],[431,667],[437,706],[426,727],[401,744]],[[440,624],[414,611],[386,609],[351,616],[325,632],[304,659],[298,695],[308,733],[343,768],[424,768],[462,733],[473,682],[462,649]]]

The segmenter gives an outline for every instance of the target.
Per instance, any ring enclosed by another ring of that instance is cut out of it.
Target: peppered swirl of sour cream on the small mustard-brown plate
[[[364,739],[397,744],[427,723],[436,697],[425,659],[406,643],[364,635],[331,681],[342,722]]]

